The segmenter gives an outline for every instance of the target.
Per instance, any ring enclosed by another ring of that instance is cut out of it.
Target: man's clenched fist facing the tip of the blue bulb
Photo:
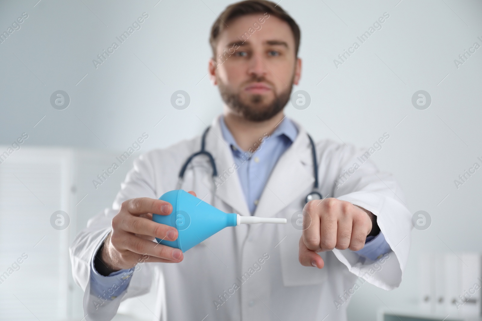
[[[310,201],[303,208],[299,261],[321,269],[324,262],[317,252],[361,250],[366,237],[379,231],[375,215],[362,207],[336,198]]]

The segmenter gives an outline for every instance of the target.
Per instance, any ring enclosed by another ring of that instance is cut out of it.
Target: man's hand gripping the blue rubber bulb
[[[196,193],[190,191],[196,196]],[[180,249],[152,242],[156,237],[175,241],[176,228],[152,220],[152,213],[171,214],[171,204],[148,197],[133,198],[120,205],[119,213],[112,218],[112,231],[94,260],[101,275],[131,269],[140,262],[179,263],[184,256]]]

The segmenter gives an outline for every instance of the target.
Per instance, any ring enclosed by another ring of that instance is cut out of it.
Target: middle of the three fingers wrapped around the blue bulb
[[[124,218],[120,224],[120,229],[135,234],[154,236],[168,241],[175,241],[178,235],[177,229],[172,226],[136,216],[127,216]]]

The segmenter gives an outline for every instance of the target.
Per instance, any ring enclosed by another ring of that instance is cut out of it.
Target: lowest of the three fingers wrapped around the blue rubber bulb
[[[124,236],[122,247],[137,254],[163,258],[175,262],[182,261],[184,257],[182,251],[178,248],[147,241],[127,233]]]

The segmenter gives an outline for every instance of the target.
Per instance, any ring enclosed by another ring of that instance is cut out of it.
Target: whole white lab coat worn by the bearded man
[[[299,263],[298,241],[302,232],[293,227],[291,219],[303,209],[314,178],[307,133],[298,123],[295,125],[298,136],[265,182],[266,188],[254,212],[259,217],[287,218],[287,224],[229,227],[188,250],[181,263],[140,264],[127,291],[98,306],[99,299],[90,294],[90,263],[110,231],[120,204],[134,197],[159,198],[176,189],[180,167],[190,154],[199,151],[201,137],[140,155],[121,184],[112,208],[91,218],[70,247],[74,279],[85,291],[86,319],[110,320],[121,300],[157,291],[158,307],[152,312],[160,320],[346,320],[348,302],[339,295],[349,300],[358,286],[363,286],[363,279],[386,290],[398,287],[407,263],[412,229],[402,191],[393,177],[379,172],[371,160],[337,189],[338,175],[351,167],[366,149],[331,140],[316,143],[321,194],[374,213],[392,251],[383,262],[365,259],[349,249],[334,249],[320,254],[325,262],[321,270]],[[249,216],[238,175],[230,169],[234,160],[223,139],[218,117],[207,135],[206,149],[213,154],[218,173],[225,178],[214,201],[207,157],[193,160],[182,189],[195,191],[200,199],[222,211]],[[261,261],[263,264],[259,264]]]

